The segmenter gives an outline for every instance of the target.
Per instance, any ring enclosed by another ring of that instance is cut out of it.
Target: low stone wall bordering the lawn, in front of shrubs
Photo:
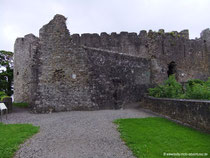
[[[210,101],[145,96],[141,107],[210,133]]]

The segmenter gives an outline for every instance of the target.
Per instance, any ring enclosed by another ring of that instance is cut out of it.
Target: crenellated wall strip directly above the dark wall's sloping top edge
[[[124,53],[132,56],[149,58],[146,37],[144,34],[138,36],[136,33],[115,32],[110,35],[107,33],[98,34],[73,34],[71,35],[72,43],[92,48],[101,48],[117,53]]]

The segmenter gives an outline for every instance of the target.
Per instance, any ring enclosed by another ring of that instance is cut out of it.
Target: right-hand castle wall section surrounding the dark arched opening
[[[178,35],[153,32],[148,37],[153,83],[161,83],[168,78],[168,64],[172,61],[176,64],[176,78],[179,82],[195,78],[207,79],[207,51],[201,39],[189,40]]]

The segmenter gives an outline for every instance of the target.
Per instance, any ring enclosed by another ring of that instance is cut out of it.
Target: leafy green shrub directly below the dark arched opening
[[[149,95],[157,98],[179,98],[181,94],[182,85],[176,81],[174,75],[171,75],[163,85],[149,88]]]

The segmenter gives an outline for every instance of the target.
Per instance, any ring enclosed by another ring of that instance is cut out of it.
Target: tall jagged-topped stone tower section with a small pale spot
[[[97,109],[90,100],[86,54],[72,49],[66,18],[40,29],[40,65],[34,111]]]

